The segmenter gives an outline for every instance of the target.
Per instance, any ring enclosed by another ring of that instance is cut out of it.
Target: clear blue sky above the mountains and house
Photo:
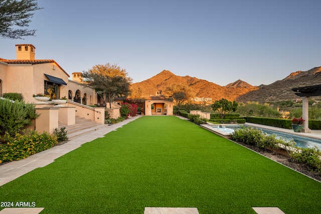
[[[319,0],[38,0],[36,37],[0,38],[0,58],[33,44],[70,75],[116,63],[133,82],[163,70],[226,85],[271,84],[321,66]]]

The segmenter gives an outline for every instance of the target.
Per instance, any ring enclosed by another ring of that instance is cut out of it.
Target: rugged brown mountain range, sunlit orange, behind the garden
[[[293,87],[321,84],[321,67],[308,71],[296,71],[282,80],[269,85],[252,86],[245,81],[237,80],[225,86],[220,86],[204,79],[191,76],[177,76],[171,71],[161,73],[141,82],[133,83],[133,94],[140,97],[155,95],[156,91],[166,91],[166,87],[184,84],[192,88],[195,97],[209,97],[213,100],[226,98],[238,102],[246,101],[278,101],[296,99],[298,96],[291,90]]]

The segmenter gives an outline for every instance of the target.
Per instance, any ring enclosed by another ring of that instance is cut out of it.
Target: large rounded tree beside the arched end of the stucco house
[[[93,87],[104,103],[109,102],[110,109],[115,97],[130,94],[131,78],[117,64],[95,65],[88,71],[83,71],[83,82]]]

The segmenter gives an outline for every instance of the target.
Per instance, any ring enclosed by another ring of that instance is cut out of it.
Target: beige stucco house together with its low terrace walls
[[[38,131],[53,133],[61,126],[75,126],[77,117],[104,125],[105,108],[87,106],[97,103],[94,89],[80,84],[79,73],[73,73],[73,80],[69,80],[69,74],[55,60],[35,59],[35,49],[32,44],[18,44],[17,59],[0,58],[0,94],[22,93],[26,102],[36,103],[36,111],[41,114],[34,125]],[[38,93],[69,100],[60,106],[50,101],[39,103],[33,97]]]

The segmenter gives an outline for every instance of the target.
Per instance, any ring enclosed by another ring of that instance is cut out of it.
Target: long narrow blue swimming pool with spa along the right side
[[[220,134],[224,136],[229,136],[231,133],[234,132],[235,129],[239,129],[242,126],[240,125],[207,125],[211,127],[211,129],[220,132]],[[244,127],[248,127],[247,125],[244,125]],[[288,134],[284,132],[278,132],[278,131],[273,131],[269,129],[262,129],[258,127],[254,127],[256,129],[262,130],[263,132],[267,133],[268,135],[273,135],[275,134],[277,137],[281,137],[284,140],[294,140],[296,143],[297,147],[302,147],[302,148],[312,148],[316,146],[318,149],[321,150],[321,140],[315,139],[315,138],[309,138],[309,137],[304,137],[304,136],[298,136],[298,135],[293,135],[293,134]],[[223,132],[223,133],[222,133]],[[225,134],[224,134],[225,133]]]

